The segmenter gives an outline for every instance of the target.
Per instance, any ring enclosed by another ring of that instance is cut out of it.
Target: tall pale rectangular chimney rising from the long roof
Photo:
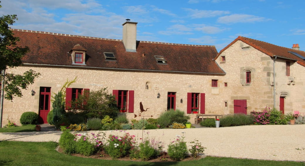
[[[137,23],[129,22],[130,19],[123,25],[123,43],[127,52],[136,52],[136,37],[137,37]]]

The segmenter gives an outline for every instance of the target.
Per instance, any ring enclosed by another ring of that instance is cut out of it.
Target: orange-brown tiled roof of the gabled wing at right
[[[242,37],[242,36],[238,36],[234,41],[232,41],[227,47],[224,47],[224,49],[222,49],[217,56],[215,57],[215,59],[224,51],[226,50],[228,47],[230,47],[233,43],[235,43],[237,40],[241,40],[244,43],[249,44],[250,46],[256,48],[257,50],[271,56],[277,56],[277,57],[282,57],[282,58],[288,58],[288,59],[292,59],[292,60],[296,60],[298,64],[301,64],[303,66],[305,66],[305,61],[299,57],[297,57],[296,55],[293,55],[291,53],[289,53],[288,51],[291,52],[295,52],[300,54],[301,56],[305,57],[305,52],[304,51],[300,51],[300,50],[294,50],[291,48],[286,48],[286,47],[280,47],[274,44],[270,44],[267,42],[263,42],[260,40],[254,40],[254,39],[250,39],[247,37]]]

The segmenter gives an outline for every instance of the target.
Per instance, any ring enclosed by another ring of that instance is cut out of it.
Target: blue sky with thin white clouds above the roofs
[[[122,24],[137,24],[137,40],[214,45],[238,36],[305,50],[305,1],[274,0],[2,0],[12,28],[122,39]]]

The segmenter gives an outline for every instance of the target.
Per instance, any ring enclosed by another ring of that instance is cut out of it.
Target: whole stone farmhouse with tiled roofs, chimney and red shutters
[[[8,69],[41,75],[22,90],[22,98],[4,100],[7,118],[19,124],[33,111],[40,123],[52,110],[51,95],[77,76],[66,89],[66,103],[85,90],[108,89],[128,119],[140,110],[158,117],[168,109],[190,115],[245,113],[266,106],[284,113],[305,107],[305,52],[239,36],[217,54],[214,46],[136,40],[137,22],[123,24],[123,40],[12,29],[30,52],[23,65]],[[34,92],[34,93],[33,93]],[[137,117],[140,119],[140,117]],[[193,123],[193,121],[192,121]]]

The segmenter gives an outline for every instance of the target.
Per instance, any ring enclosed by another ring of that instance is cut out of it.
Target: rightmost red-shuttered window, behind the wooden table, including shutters
[[[188,93],[186,113],[198,110],[200,114],[205,113],[205,93]]]

